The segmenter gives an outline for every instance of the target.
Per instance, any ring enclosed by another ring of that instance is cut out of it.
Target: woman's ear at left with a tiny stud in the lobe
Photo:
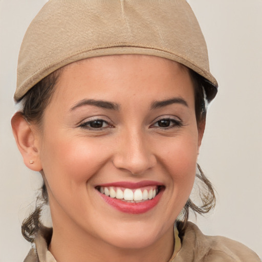
[[[17,112],[11,120],[13,135],[25,165],[34,171],[42,170],[39,158],[39,132],[35,125],[29,124],[24,116]]]

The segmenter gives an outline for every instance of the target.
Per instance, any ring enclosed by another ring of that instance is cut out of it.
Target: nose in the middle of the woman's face
[[[143,174],[157,163],[156,156],[150,150],[150,141],[143,132],[126,132],[118,139],[113,164],[116,168],[132,174]]]

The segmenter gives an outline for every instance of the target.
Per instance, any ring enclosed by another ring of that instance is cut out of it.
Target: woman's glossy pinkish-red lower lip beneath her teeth
[[[158,204],[163,194],[163,191],[164,190],[160,190],[160,192],[156,195],[154,199],[146,200],[139,203],[124,202],[119,199],[107,197],[105,194],[102,194],[100,192],[99,194],[107,204],[111,205],[112,207],[121,212],[129,214],[142,214],[154,208]]]

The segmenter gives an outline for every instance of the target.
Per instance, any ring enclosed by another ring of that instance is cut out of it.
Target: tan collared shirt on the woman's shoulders
[[[52,229],[43,227],[24,262],[56,262],[48,250],[51,237]],[[187,222],[185,230],[182,223],[174,226],[174,243],[168,262],[261,262],[245,245],[223,236],[204,235],[191,222]]]

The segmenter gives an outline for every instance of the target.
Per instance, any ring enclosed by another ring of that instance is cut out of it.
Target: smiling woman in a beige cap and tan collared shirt
[[[24,223],[25,261],[259,261],[187,223],[214,204],[201,169],[189,195],[217,82],[185,1],[50,1],[17,72],[14,136],[53,222]]]

